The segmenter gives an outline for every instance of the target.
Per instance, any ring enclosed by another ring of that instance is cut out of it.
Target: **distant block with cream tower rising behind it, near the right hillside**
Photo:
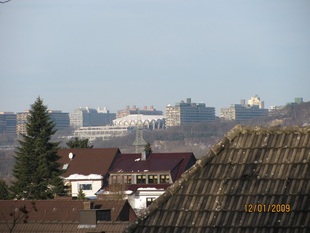
[[[241,99],[241,104],[230,104],[229,108],[221,108],[219,117],[221,121],[233,121],[268,116],[269,109],[262,107],[264,107],[264,102],[260,101],[258,95],[255,95],[248,100],[248,104],[245,104],[245,100]]]

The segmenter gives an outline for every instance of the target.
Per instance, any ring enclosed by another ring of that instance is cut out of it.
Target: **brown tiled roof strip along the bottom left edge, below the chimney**
[[[0,221],[0,232],[10,232],[7,223],[11,226],[12,222]],[[122,232],[129,222],[99,221],[96,228],[78,228],[76,221],[29,221],[28,223],[18,222],[13,228],[12,233],[63,233],[63,232]]]

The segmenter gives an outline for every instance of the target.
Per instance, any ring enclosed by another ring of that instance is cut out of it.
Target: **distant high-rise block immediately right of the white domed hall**
[[[166,127],[179,126],[200,121],[214,121],[215,107],[206,107],[205,103],[191,103],[191,98],[170,104],[166,107]]]

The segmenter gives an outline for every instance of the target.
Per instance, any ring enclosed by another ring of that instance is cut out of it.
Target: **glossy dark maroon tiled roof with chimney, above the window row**
[[[170,172],[179,167],[173,181],[185,171],[193,153],[151,153],[146,160],[141,154],[120,154],[109,172]],[[179,164],[181,163],[181,165]]]

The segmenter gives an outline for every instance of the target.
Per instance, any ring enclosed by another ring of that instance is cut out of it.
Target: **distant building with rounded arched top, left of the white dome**
[[[106,107],[104,107],[104,110],[101,110],[100,107],[97,110],[89,107],[79,107],[69,114],[70,127],[73,129],[88,126],[107,126],[112,124],[115,118],[116,114],[110,113]]]

